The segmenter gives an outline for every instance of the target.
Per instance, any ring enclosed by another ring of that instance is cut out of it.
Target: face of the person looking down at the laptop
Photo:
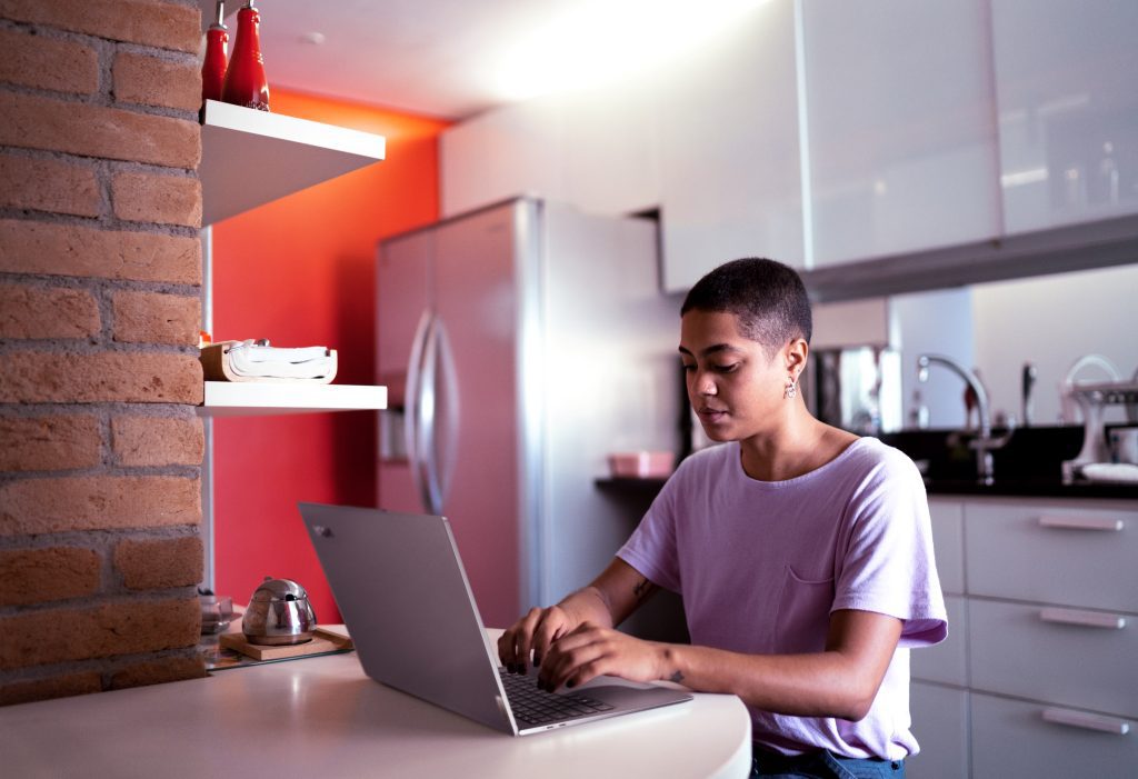
[[[687,398],[712,441],[740,441],[774,430],[791,375],[784,350],[774,358],[744,335],[735,314],[693,309],[679,329]]]

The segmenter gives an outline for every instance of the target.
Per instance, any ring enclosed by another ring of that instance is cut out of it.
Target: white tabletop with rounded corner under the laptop
[[[511,737],[389,689],[354,652],[0,707],[11,777],[745,777],[734,696]]]

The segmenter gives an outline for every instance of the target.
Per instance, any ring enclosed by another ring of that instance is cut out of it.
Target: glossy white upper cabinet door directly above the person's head
[[[802,267],[794,6],[770,0],[669,68],[660,106],[663,287],[728,259]]]

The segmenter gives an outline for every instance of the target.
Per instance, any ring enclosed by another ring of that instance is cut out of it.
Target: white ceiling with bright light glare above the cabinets
[[[584,75],[643,66],[661,51],[670,56],[761,1],[256,0],[256,7],[270,88],[461,119]],[[216,2],[199,3],[207,25]],[[225,2],[231,53],[241,5]],[[311,41],[314,33],[322,43]]]

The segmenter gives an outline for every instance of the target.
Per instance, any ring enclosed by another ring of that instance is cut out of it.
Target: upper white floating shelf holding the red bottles
[[[201,224],[378,163],[386,146],[382,135],[206,100]]]

